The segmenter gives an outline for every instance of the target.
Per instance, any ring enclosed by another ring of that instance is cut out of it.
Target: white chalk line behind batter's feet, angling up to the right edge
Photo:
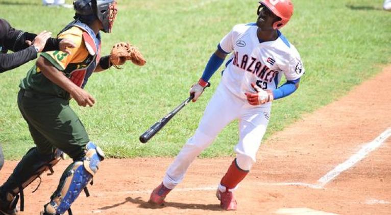
[[[356,164],[358,161],[362,160],[370,152],[372,152],[372,151],[376,150],[378,147],[380,147],[383,144],[383,142],[390,136],[391,136],[391,128],[388,128],[383,133],[381,133],[376,139],[374,139],[373,141],[364,145],[356,154],[352,155],[348,160],[337,165],[333,170],[331,170],[326,175],[324,175],[322,178],[317,180],[316,184],[301,183],[301,182],[282,182],[282,183],[259,182],[257,184],[258,185],[265,185],[265,186],[304,186],[304,187],[309,187],[309,188],[313,188],[313,189],[323,189],[327,183],[329,183],[334,178],[336,178],[340,173],[348,170],[354,164]],[[205,186],[205,187],[175,188],[175,192],[205,191],[205,190],[216,190],[216,189],[217,189],[217,185],[216,186],[209,185],[209,186]],[[95,194],[92,196],[105,196],[104,193],[150,194],[150,193],[152,193],[152,189],[125,190],[125,191],[116,191],[116,192],[102,191],[99,194]]]

